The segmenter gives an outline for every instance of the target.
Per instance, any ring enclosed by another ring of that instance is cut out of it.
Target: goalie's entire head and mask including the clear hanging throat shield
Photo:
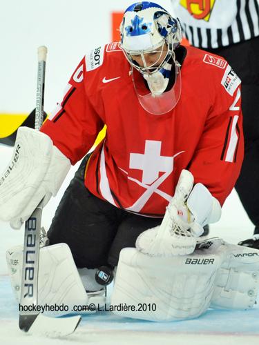
[[[126,9],[120,33],[119,44],[131,64],[140,104],[151,114],[169,112],[178,103],[181,93],[180,63],[174,52],[182,39],[180,22],[160,5],[143,1]],[[175,72],[175,81],[168,91],[172,72]]]

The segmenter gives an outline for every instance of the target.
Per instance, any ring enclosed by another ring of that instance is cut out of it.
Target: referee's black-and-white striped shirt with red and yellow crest
[[[258,0],[171,0],[192,46],[220,48],[259,36]]]

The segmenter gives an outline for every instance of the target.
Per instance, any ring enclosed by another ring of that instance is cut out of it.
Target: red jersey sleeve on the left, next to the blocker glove
[[[41,127],[72,164],[86,155],[104,126],[86,94],[86,73],[84,58],[73,72],[63,100]]]

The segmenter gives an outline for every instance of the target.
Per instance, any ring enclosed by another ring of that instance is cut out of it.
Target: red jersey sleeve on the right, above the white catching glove
[[[244,155],[240,86],[233,92],[235,81],[227,78],[225,72],[189,166],[195,183],[207,186],[221,205],[238,179]]]

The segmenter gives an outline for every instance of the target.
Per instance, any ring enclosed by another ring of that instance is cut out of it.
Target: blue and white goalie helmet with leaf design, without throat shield
[[[156,3],[142,1],[133,3],[124,12],[120,26],[120,46],[129,63],[140,72],[152,73],[162,68],[164,63],[173,56],[175,48],[182,40],[182,30],[178,19],[174,19],[169,12]],[[140,67],[134,61],[134,55],[153,52],[166,43],[167,54],[160,66],[153,68]]]

